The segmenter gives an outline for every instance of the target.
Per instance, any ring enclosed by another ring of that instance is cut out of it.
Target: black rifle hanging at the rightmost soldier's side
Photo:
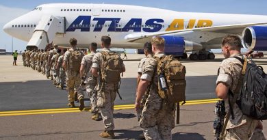
[[[225,118],[225,101],[224,100],[218,100],[215,107],[215,120],[213,124],[214,128],[214,136],[216,137],[216,140],[220,139],[220,132],[223,129],[224,124],[224,118]]]

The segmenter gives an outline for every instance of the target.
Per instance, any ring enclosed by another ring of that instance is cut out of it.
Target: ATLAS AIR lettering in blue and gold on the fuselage
[[[92,18],[92,16],[78,16],[73,23],[66,29],[66,31],[75,31],[80,29],[81,31],[99,32],[103,28],[107,28],[107,32],[157,32],[163,28],[164,20],[160,18],[151,18],[146,20],[142,25],[142,18],[131,18],[126,25],[122,27],[119,24],[120,18]],[[95,24],[91,24],[91,21],[96,21]],[[196,27],[210,27],[212,26],[212,20],[197,20],[190,19],[188,25],[185,26],[184,19],[174,19],[172,23],[166,28],[166,31],[180,30],[180,29],[192,29],[194,25]],[[92,28],[91,28],[92,27]]]

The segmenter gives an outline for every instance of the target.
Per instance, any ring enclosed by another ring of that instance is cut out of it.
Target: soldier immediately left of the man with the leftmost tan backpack
[[[58,84],[58,88],[61,88],[63,89],[64,87],[64,83],[65,83],[65,76],[66,76],[66,71],[64,70],[64,68],[62,67],[62,64],[63,64],[63,59],[64,59],[64,55],[66,53],[66,48],[63,49],[63,55],[61,55],[59,58],[58,58],[58,64],[57,64],[57,70],[60,70],[60,81],[59,81],[59,84]]]

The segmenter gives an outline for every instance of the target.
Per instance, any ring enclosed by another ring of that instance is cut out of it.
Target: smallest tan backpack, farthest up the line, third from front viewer
[[[70,51],[70,61],[69,68],[73,71],[78,71],[81,67],[81,59],[83,59],[84,55],[81,54],[81,51]]]

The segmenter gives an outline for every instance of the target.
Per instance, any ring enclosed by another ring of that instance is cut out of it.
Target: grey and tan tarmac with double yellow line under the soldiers
[[[136,75],[144,55],[127,55],[126,72],[120,94],[115,101],[114,122],[116,139],[138,139],[141,134],[136,113]],[[213,121],[216,95],[216,74],[223,55],[207,61],[181,59],[186,66],[187,103],[181,106],[180,124],[173,129],[173,139],[214,139]],[[267,58],[253,59],[267,70]],[[12,66],[11,55],[0,55],[0,139],[101,139],[103,122],[92,121],[86,107],[67,108],[66,90],[57,89],[51,80],[31,68]],[[88,106],[89,102],[86,102]],[[76,104],[77,106],[79,104]],[[267,123],[264,134],[267,136]]]

